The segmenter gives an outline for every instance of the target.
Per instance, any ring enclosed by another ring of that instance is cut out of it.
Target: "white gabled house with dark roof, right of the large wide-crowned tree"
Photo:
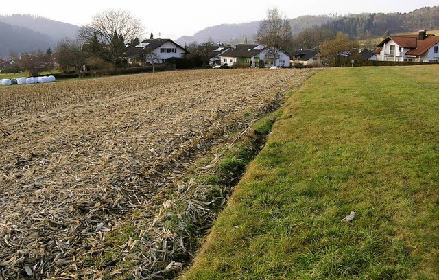
[[[181,47],[171,39],[148,39],[143,40],[139,45],[129,47],[123,53],[122,58],[129,64],[146,62],[163,63],[168,58],[181,58],[187,54],[185,48]]]

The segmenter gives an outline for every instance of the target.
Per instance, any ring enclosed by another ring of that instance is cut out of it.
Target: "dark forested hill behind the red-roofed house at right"
[[[439,29],[439,6],[425,7],[408,12],[389,14],[353,14],[328,21],[320,26],[351,38],[388,36],[401,32]]]

